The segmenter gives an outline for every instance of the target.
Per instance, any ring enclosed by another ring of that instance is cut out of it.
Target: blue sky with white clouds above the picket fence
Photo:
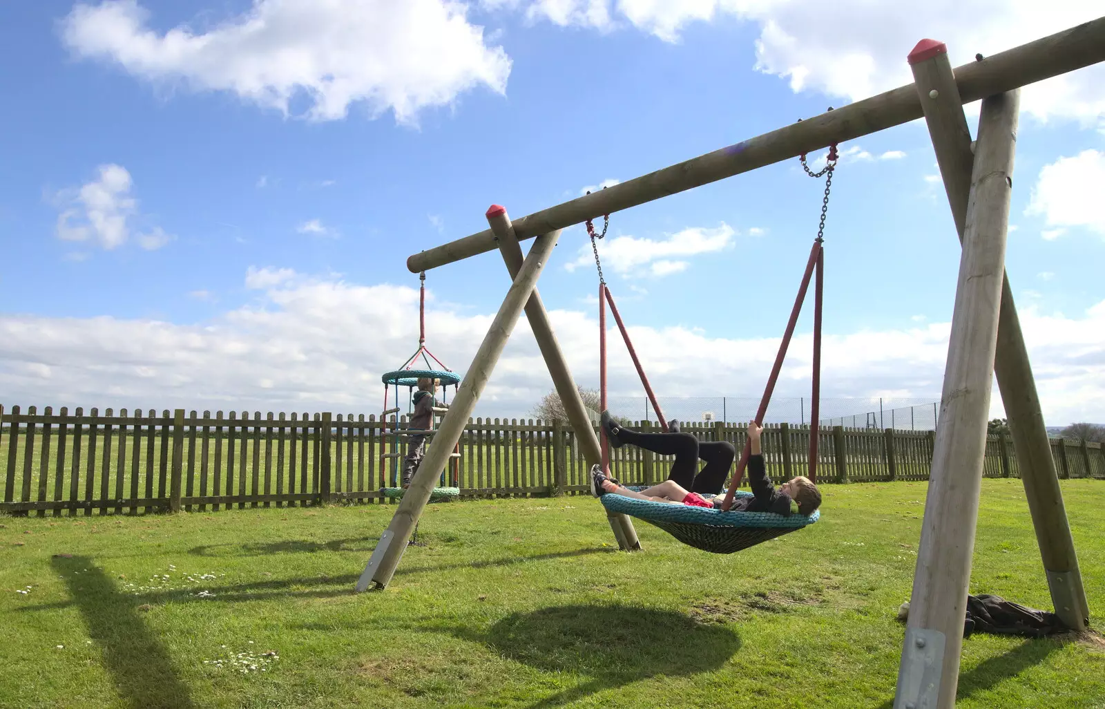
[[[1097,0],[3,3],[0,404],[378,413],[381,374],[418,347],[407,257],[485,229],[490,205],[517,218],[907,84],[923,38],[959,65],[1101,13]],[[1007,271],[1045,419],[1105,421],[1105,66],[1025,87],[1021,110]],[[822,395],[857,410],[937,399],[960,249],[927,128],[841,153]],[[823,188],[796,159],[611,215],[603,270],[657,394],[760,395]],[[539,290],[589,387],[597,285],[582,227],[566,229]],[[430,350],[463,375],[508,286],[495,253],[429,271]],[[780,398],[809,396],[811,311]],[[641,396],[610,337],[611,395]],[[523,319],[476,415],[528,415],[550,388]]]

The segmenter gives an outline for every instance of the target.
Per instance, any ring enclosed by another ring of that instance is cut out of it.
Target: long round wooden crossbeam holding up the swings
[[[966,103],[1105,61],[1105,18],[965,64],[955,70]],[[908,123],[924,115],[914,84],[849,104],[713,153],[649,173],[513,220],[518,240],[566,229],[587,219],[636,207],[758,167],[812,153],[833,143]],[[428,271],[496,248],[491,229],[415,253],[411,273]]]

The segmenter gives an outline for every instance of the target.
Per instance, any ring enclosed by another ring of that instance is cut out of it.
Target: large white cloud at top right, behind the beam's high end
[[[522,6],[522,2],[496,2]],[[857,101],[913,82],[906,54],[923,37],[948,45],[953,66],[1065,30],[1101,15],[1099,0],[933,0],[927,3],[793,0],[540,0],[530,17],[610,31],[635,27],[675,42],[694,22],[727,14],[754,22],[756,69],[812,90]],[[555,8],[550,11],[548,8]],[[1022,110],[1040,119],[1074,118],[1105,129],[1105,66],[1025,87]]]

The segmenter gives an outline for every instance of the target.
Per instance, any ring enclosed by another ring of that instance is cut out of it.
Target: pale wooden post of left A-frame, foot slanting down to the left
[[[430,493],[433,492],[438,482],[438,476],[449,462],[453,447],[461,439],[464,426],[469,417],[472,416],[484,387],[487,386],[487,379],[491,378],[495,364],[498,363],[498,357],[503,354],[503,348],[506,347],[506,341],[511,337],[511,333],[522,315],[522,309],[533,294],[537,279],[545,264],[548,263],[552,247],[556,246],[559,238],[560,230],[558,229],[540,236],[534,241],[534,246],[518,270],[518,274],[514,278],[498,313],[495,314],[495,320],[492,321],[487,334],[484,335],[480,348],[472,358],[467,375],[457,388],[449,413],[445,414],[438,432],[434,434],[433,440],[425,451],[425,457],[411,479],[410,487],[403,493],[399,508],[396,510],[394,517],[391,518],[391,523],[380,535],[376,551],[372,552],[368,565],[357,581],[357,591],[366,591],[373,584],[377,588],[383,588],[391,581],[391,576],[399,565],[399,560],[407,549],[407,542],[418,523],[419,515],[430,500]]]

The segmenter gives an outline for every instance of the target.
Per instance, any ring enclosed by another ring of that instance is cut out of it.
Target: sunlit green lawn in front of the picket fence
[[[1105,483],[1062,486],[1101,609]],[[1050,607],[1020,481],[982,492],[971,591]],[[0,518],[0,707],[888,709],[925,483],[824,493],[817,525],[727,556],[644,523],[617,552],[586,497],[432,505],[367,594],[393,507]],[[257,669],[213,661],[240,653]],[[1093,638],[965,642],[959,707],[1102,698]]]

